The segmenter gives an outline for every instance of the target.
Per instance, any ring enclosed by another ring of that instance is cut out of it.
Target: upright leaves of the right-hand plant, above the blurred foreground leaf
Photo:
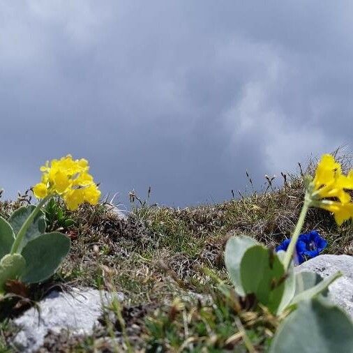
[[[240,259],[234,260],[234,253],[242,254]],[[230,238],[225,247],[225,265],[237,294],[255,294],[260,303],[279,315],[299,301],[326,291],[333,280],[342,276],[338,272],[317,280],[316,273],[294,275],[292,263],[285,271],[284,255],[273,253],[248,236]]]

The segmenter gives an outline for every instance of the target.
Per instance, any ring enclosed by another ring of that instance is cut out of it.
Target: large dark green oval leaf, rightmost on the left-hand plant
[[[25,283],[50,278],[70,251],[70,238],[59,232],[45,233],[27,243],[22,250],[27,266],[22,275]]]

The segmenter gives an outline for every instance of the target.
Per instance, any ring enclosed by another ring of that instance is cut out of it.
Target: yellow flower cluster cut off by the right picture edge
[[[353,170],[342,174],[340,163],[330,154],[324,154],[317,164],[310,189],[313,206],[332,212],[338,225],[353,217],[353,203],[347,193],[353,190]]]

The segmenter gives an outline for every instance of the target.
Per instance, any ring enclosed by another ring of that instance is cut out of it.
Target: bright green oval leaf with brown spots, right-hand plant
[[[240,276],[246,294],[276,313],[285,290],[285,269],[276,253],[262,245],[248,248],[240,263]]]

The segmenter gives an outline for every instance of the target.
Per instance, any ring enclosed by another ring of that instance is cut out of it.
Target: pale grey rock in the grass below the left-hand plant
[[[92,288],[75,288],[70,292],[51,292],[38,303],[14,320],[20,327],[13,340],[20,352],[33,352],[42,344],[49,330],[59,333],[67,329],[73,334],[90,334],[98,323],[102,307],[113,299],[122,300],[123,294],[111,294]]]

